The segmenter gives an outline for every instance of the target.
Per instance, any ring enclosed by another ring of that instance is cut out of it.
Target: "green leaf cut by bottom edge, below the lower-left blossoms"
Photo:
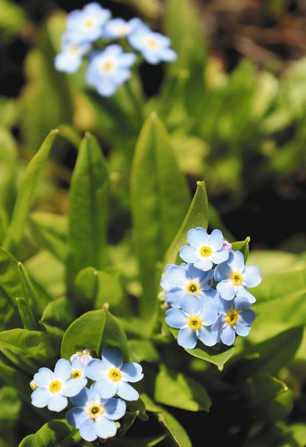
[[[25,437],[18,447],[70,447],[78,446],[81,436],[66,420],[50,420],[36,432]],[[82,446],[91,444],[82,442]]]

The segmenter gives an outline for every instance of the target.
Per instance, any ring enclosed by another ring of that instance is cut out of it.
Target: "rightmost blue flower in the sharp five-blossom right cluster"
[[[255,287],[261,282],[259,268],[254,265],[245,267],[243,254],[240,251],[231,251],[229,259],[215,268],[215,280],[218,281],[217,291],[224,300],[232,300],[235,295],[245,296],[250,302],[256,299],[252,293],[245,290]]]

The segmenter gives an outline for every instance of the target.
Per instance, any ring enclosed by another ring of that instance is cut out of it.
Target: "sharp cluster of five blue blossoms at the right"
[[[231,249],[220,230],[208,235],[204,228],[192,228],[188,243],[180,251],[185,263],[167,265],[160,283],[171,306],[166,323],[179,329],[177,341],[185,349],[193,349],[198,339],[206,346],[220,340],[231,346],[236,335],[250,332],[256,299],[246,287],[261,282],[259,269],[246,267],[243,254]]]

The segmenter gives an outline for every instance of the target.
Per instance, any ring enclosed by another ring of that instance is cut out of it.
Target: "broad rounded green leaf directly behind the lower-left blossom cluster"
[[[61,356],[70,358],[79,350],[90,348],[101,356],[107,344],[118,346],[128,360],[128,342],[118,320],[107,310],[93,310],[77,318],[66,330]]]

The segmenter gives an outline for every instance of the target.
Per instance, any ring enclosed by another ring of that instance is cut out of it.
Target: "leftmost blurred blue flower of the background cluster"
[[[87,43],[82,45],[64,43],[62,52],[56,54],[55,57],[54,65],[56,70],[75,73],[82,65],[82,57],[89,49],[90,45]]]

